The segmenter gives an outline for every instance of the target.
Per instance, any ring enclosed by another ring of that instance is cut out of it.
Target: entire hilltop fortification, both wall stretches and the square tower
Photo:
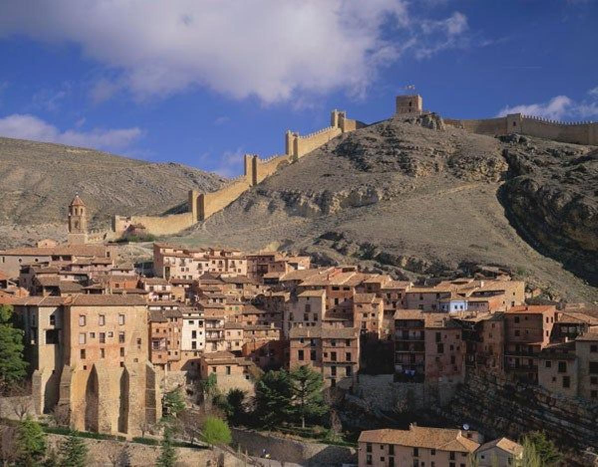
[[[423,109],[423,99],[419,94],[397,96],[395,116],[423,115],[431,113]],[[489,119],[444,119],[447,125],[470,133],[496,136],[508,133],[520,133],[580,145],[598,145],[598,123],[596,122],[559,122],[535,116],[512,113],[504,117]],[[285,153],[261,159],[254,154],[246,154],[243,160],[243,175],[230,180],[221,189],[199,193],[190,191],[188,211],[167,216],[117,216],[112,218],[113,238],[118,238],[130,229],[142,226],[153,235],[171,235],[190,228],[197,222],[208,219],[231,202],[235,201],[252,186],[285,165],[297,162],[303,156],[320,148],[331,139],[358,128],[366,127],[363,122],[347,118],[346,112],[332,110],[330,126],[301,136],[287,130],[285,133]]]

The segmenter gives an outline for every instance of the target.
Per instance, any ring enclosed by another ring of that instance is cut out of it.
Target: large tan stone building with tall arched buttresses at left
[[[76,429],[135,434],[160,418],[145,299],[83,295],[14,302],[33,369],[35,410]]]

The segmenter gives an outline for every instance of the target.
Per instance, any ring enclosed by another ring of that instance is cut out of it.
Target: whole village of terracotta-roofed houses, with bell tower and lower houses
[[[527,305],[524,282],[498,268],[422,286],[307,256],[155,243],[145,276],[118,245],[86,243],[86,216],[76,196],[67,244],[0,251],[0,303],[25,331],[35,410],[63,408],[77,429],[157,422],[175,374],[198,385],[215,374],[222,391],[251,394],[263,371],[309,365],[352,391],[372,342],[392,346],[395,382],[450,392],[474,371],[598,398],[598,319]],[[364,431],[359,446],[359,465],[521,455],[509,440],[418,426]]]

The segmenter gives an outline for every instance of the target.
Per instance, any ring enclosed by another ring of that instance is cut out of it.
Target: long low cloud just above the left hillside
[[[140,128],[120,128],[91,131],[60,131],[54,125],[33,115],[13,113],[0,118],[0,136],[61,143],[63,145],[83,146],[97,149],[123,149],[138,140],[143,134]]]

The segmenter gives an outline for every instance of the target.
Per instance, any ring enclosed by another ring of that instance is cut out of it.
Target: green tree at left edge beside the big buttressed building
[[[23,331],[13,326],[13,307],[0,305],[0,389],[25,378],[23,348]]]

